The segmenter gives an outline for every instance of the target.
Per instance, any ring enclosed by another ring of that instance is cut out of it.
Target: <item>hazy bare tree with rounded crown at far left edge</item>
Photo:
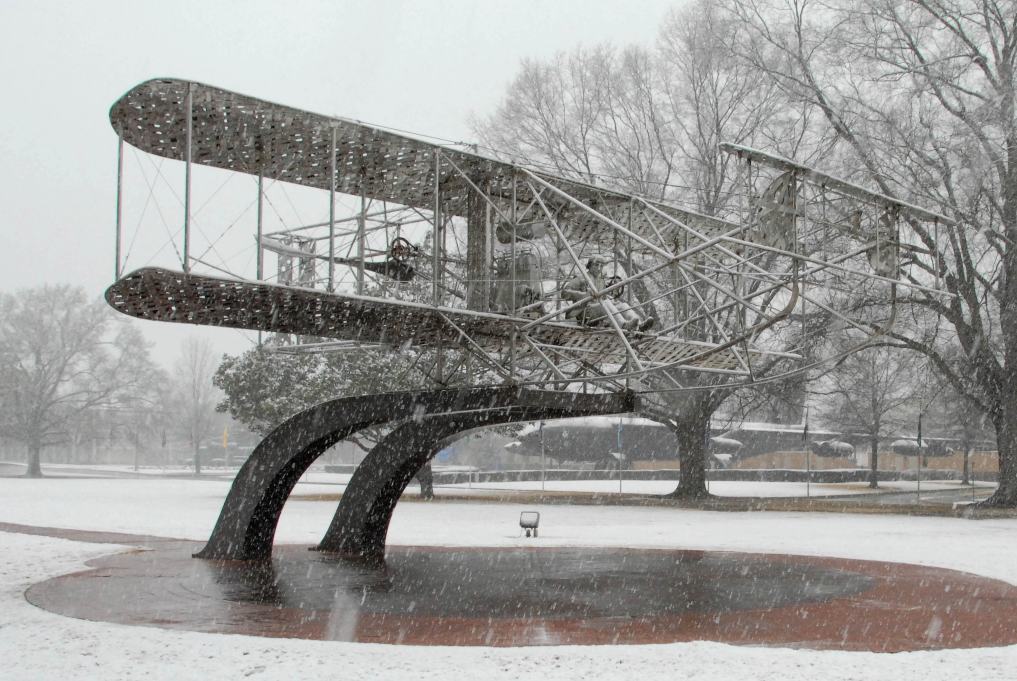
[[[43,449],[83,413],[149,401],[159,371],[137,328],[113,317],[80,288],[0,296],[0,435],[27,447],[26,476],[42,476]]]

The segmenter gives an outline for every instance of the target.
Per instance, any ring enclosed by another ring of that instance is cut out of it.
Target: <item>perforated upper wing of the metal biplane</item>
[[[356,121],[301,111],[202,83],[157,78],[133,87],[110,109],[110,123],[124,141],[168,159],[186,157],[188,97],[192,108],[191,160],[203,166],[330,189],[333,139],[337,191],[418,208],[434,205],[435,173],[446,210],[466,209],[470,182],[505,206],[514,195],[520,210],[533,201],[521,168],[487,157],[421,141]],[[633,196],[546,173],[544,179],[652,242],[676,243],[676,226],[654,225],[627,210]],[[470,178],[469,181],[464,179]],[[515,187],[514,187],[515,185]],[[704,235],[736,226],[659,201],[653,205]],[[609,245],[615,233],[572,206],[562,229],[572,240]],[[631,225],[630,225],[631,221]],[[636,245],[639,248],[639,245]]]

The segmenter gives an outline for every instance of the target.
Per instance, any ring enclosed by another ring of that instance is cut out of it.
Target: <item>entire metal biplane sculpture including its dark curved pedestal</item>
[[[271,434],[204,557],[267,556],[296,480],[366,425],[401,424],[354,476],[322,550],[382,551],[396,499],[458,432],[639,412],[703,377],[788,377],[844,352],[823,345],[831,325],[860,347],[892,325],[898,287],[936,288],[901,277],[901,253],[931,254],[931,230],[915,226],[949,222],[735,145],[723,148],[744,169],[744,197],[722,219],[184,80],[137,85],[110,119],[121,160],[126,143],[185,166],[179,268],[123,274],[118,203],[115,309],[267,332],[275,352],[431,353],[436,389],[336,400]],[[257,179],[253,272],[191,250],[193,167]],[[266,232],[266,182],[317,190],[327,220]],[[339,214],[337,197],[359,209]],[[873,304],[855,310],[845,295]]]

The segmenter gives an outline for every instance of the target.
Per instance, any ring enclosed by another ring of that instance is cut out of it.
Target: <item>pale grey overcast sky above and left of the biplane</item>
[[[113,278],[110,106],[138,82],[187,78],[394,128],[470,140],[525,57],[648,44],[675,2],[15,2],[0,0],[0,291]],[[187,333],[145,322],[168,362]]]

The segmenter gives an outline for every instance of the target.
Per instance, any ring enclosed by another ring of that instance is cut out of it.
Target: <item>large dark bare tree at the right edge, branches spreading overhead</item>
[[[740,56],[822,113],[844,173],[937,206],[910,225],[905,275],[920,323],[895,329],[989,414],[1000,486],[1017,505],[1017,6],[1010,1],[729,0]],[[959,348],[961,352],[955,352]]]

